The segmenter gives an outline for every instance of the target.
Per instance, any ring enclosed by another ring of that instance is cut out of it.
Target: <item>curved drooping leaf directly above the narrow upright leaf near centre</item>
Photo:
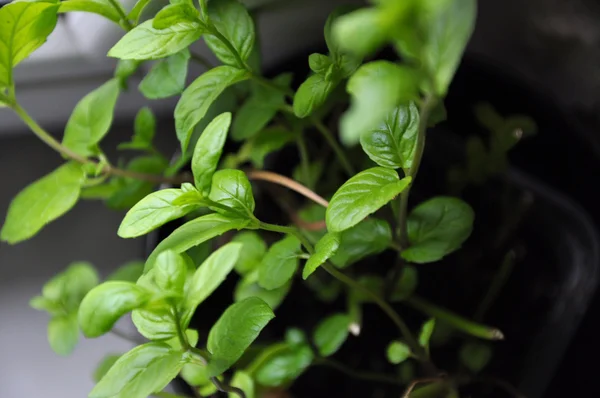
[[[185,152],[192,130],[204,118],[210,105],[229,86],[246,80],[249,73],[232,66],[217,66],[194,80],[175,107],[175,129]]]

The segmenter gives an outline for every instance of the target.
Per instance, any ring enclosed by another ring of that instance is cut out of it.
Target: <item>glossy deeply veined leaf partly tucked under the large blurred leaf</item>
[[[419,133],[419,110],[411,102],[390,112],[383,123],[360,136],[360,144],[372,161],[391,169],[412,167]]]

